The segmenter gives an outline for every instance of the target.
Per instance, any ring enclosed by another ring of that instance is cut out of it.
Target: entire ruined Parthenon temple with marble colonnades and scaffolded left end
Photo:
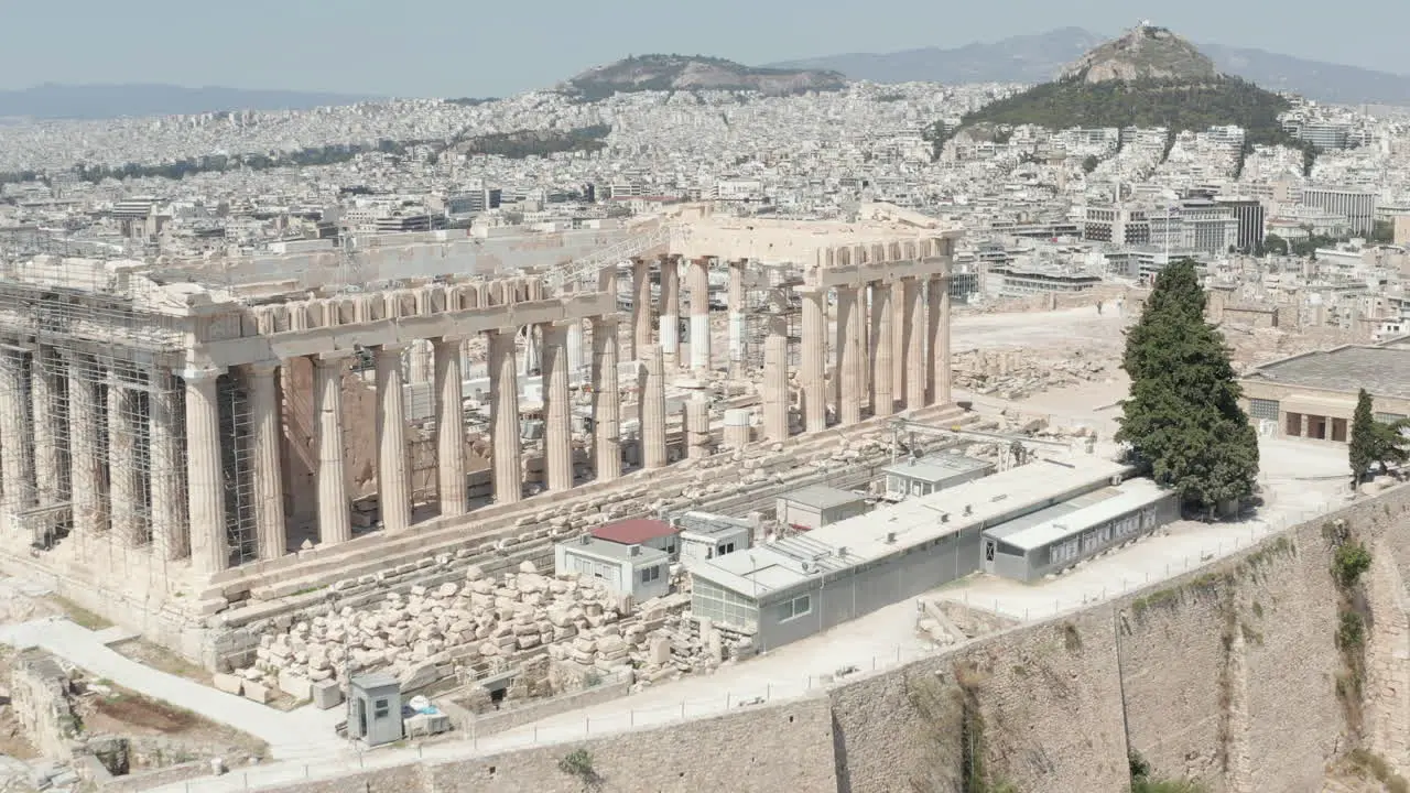
[[[362,284],[6,262],[3,552],[73,588],[209,615],[234,581],[258,590],[344,543],[471,538],[520,502],[670,476],[667,391],[682,380],[685,432],[705,436],[708,378],[761,370],[757,426],[735,420],[726,446],[949,405],[957,233],[840,226],[699,213],[636,233],[636,250],[623,236],[512,271],[446,258],[447,272]],[[712,271],[728,284],[719,353]],[[488,500],[471,481],[485,437]]]

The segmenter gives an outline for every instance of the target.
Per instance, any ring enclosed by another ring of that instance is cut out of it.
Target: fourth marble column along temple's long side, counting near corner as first
[[[402,347],[372,349],[376,364],[376,504],[382,528],[412,528],[410,457],[406,453],[406,395],[402,388]]]

